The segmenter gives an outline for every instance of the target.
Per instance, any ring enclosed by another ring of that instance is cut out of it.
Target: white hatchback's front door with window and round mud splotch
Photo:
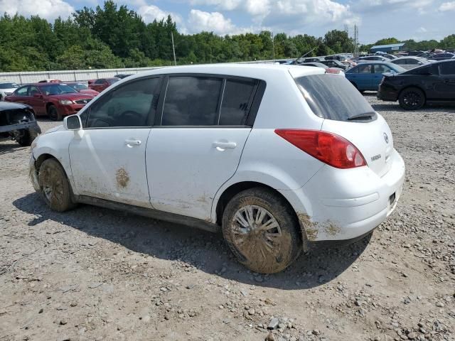
[[[70,143],[76,194],[150,207],[145,150],[160,85],[159,77],[132,80],[87,108]]]

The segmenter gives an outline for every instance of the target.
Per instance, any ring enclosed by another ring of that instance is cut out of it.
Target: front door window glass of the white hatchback
[[[87,127],[150,126],[160,83],[159,78],[136,80],[105,94],[90,108]]]

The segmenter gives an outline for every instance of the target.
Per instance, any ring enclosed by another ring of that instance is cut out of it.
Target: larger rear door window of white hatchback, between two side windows
[[[169,77],[163,126],[218,124],[218,99],[223,80],[213,77]]]

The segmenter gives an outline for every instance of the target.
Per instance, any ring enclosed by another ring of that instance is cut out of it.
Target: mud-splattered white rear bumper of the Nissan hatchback
[[[324,166],[303,188],[282,191],[297,212],[310,242],[367,234],[393,212],[402,193],[405,163],[397,151],[382,177],[368,167]]]

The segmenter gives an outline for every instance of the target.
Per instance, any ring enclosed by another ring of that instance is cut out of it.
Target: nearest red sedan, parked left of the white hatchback
[[[28,104],[36,116],[48,115],[54,121],[72,115],[92,100],[91,94],[80,94],[72,87],[60,83],[37,83],[19,87],[8,102]]]

